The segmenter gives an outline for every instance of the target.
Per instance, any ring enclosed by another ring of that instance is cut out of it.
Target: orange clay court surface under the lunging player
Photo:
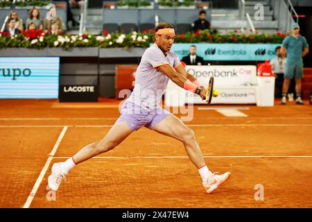
[[[101,139],[119,117],[119,101],[1,100],[0,207],[312,207],[312,108],[304,102],[194,106],[185,123],[209,169],[232,172],[214,194],[205,193],[182,143],[141,128],[79,164],[48,201],[52,164]],[[201,109],[221,107],[245,117]],[[254,200],[258,184],[262,201]]]

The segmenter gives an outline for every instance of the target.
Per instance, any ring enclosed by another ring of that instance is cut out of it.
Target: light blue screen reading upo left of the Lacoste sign
[[[57,99],[60,58],[0,57],[1,99]]]

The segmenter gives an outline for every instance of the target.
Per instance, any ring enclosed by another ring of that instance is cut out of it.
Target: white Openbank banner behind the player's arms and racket
[[[256,103],[257,67],[252,65],[237,66],[187,66],[187,71],[207,87],[210,76],[214,76],[214,88],[219,96],[211,103]],[[200,96],[187,92],[171,80],[165,94],[167,106],[182,106],[185,103],[205,103]]]

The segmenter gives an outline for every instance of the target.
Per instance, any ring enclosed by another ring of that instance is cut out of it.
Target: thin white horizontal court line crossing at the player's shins
[[[204,155],[204,158],[312,158],[312,155]],[[53,159],[68,159],[70,157],[53,157]],[[185,159],[188,156],[121,156],[121,157],[92,157],[92,159]]]

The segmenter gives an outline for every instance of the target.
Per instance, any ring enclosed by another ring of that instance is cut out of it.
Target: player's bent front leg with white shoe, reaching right
[[[169,114],[160,123],[155,125],[152,130],[155,130],[162,135],[178,139],[184,144],[191,162],[193,162],[198,168],[198,172],[202,177],[202,185],[205,187],[208,194],[211,194],[212,191],[217,189],[223,184],[223,182],[225,182],[225,180],[227,180],[227,178],[229,178],[229,175],[231,174],[229,172],[218,175],[209,171],[205,164],[205,160],[202,157],[200,147],[196,142],[193,130],[185,126],[185,124],[173,114]]]

